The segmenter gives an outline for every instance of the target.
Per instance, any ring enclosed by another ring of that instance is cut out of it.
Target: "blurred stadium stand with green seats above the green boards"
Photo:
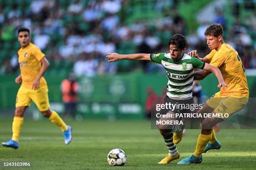
[[[189,49],[208,52],[196,30],[202,26],[196,13],[210,0],[0,0],[0,74],[18,70],[17,29],[31,29],[32,41],[40,42],[51,66],[46,74],[67,75],[81,54],[92,58],[96,74],[143,70],[150,65],[131,61],[114,63],[109,69],[107,52],[162,52],[174,33],[190,37]],[[193,5],[195,4],[195,5]],[[226,0],[216,9],[216,21],[225,24],[225,39],[238,50],[246,68],[256,68],[256,2]],[[193,5],[193,9],[189,7]],[[209,23],[207,23],[209,24]],[[86,66],[85,66],[86,67]],[[158,69],[159,70],[159,69]]]

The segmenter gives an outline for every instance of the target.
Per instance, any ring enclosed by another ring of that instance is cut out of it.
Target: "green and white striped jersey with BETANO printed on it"
[[[203,69],[205,62],[187,54],[179,61],[172,60],[170,53],[151,54],[150,58],[163,65],[166,70],[169,79],[166,93],[168,97],[175,100],[192,98],[194,68]]]

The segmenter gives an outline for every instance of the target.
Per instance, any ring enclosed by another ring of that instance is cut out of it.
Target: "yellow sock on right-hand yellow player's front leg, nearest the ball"
[[[200,157],[201,156],[202,151],[204,151],[205,146],[207,145],[209,140],[211,140],[211,138],[212,138],[212,134],[210,134],[210,135],[203,135],[202,133],[200,133],[199,137],[197,138],[196,150],[193,153],[196,157]]]

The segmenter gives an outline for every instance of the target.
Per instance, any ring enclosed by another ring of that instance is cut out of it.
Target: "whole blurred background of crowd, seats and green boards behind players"
[[[205,29],[221,23],[224,40],[239,53],[250,96],[256,92],[256,0],[0,0],[0,115],[13,116],[20,85],[17,30],[50,62],[44,77],[51,109],[64,118],[144,119],[166,93],[167,77],[151,61],[109,63],[108,52],[168,52],[169,38],[187,37],[200,57],[210,50]],[[197,97],[218,92],[209,75],[195,82]],[[41,119],[35,105],[26,116]]]

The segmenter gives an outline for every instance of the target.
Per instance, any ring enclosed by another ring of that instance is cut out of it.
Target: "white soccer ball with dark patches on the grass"
[[[113,149],[108,153],[108,163],[110,166],[123,166],[126,159],[127,158],[123,150]]]

